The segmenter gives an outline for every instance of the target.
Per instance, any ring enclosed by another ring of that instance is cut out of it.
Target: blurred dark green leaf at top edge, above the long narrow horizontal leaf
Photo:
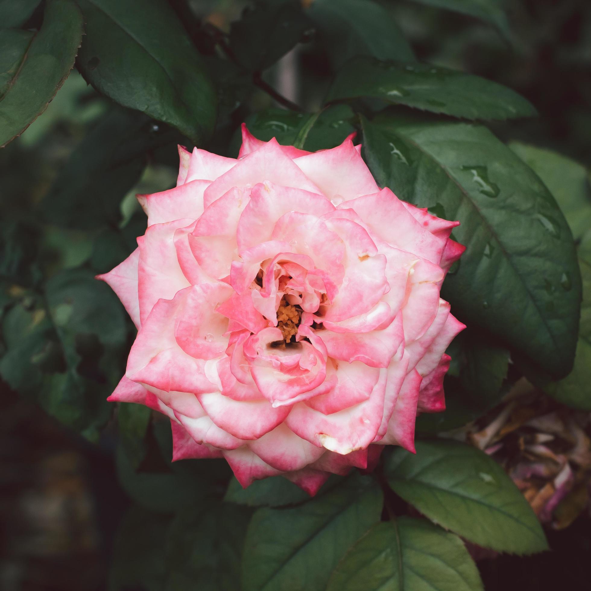
[[[355,56],[414,60],[391,11],[371,0],[314,0],[309,8],[335,68]]]

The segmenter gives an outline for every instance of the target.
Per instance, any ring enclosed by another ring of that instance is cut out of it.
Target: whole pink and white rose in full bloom
[[[138,327],[109,400],[168,415],[174,460],[314,494],[379,446],[414,452],[417,413],[445,408],[465,326],[439,291],[464,247],[458,222],[380,190],[353,136],[314,153],[242,139],[238,160],[179,147],[176,188],[138,196],[145,235],[99,275]]]

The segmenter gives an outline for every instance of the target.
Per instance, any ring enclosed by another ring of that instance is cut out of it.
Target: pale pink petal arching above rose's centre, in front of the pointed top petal
[[[335,209],[326,197],[293,187],[258,183],[238,222],[239,252],[271,238],[277,220],[288,212],[309,213],[320,217]]]

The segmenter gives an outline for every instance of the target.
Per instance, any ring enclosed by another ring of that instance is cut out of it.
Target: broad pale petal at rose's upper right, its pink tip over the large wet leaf
[[[353,209],[368,226],[371,235],[395,248],[439,264],[446,243],[414,219],[389,189],[346,201],[338,209]]]

